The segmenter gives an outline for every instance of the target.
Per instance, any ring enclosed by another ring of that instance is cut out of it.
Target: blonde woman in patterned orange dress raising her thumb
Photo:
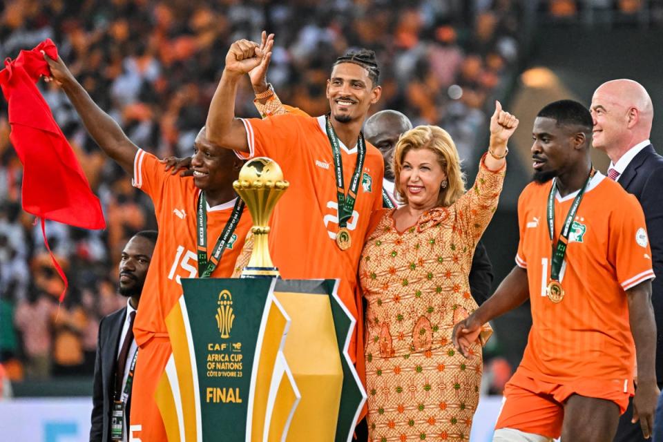
[[[472,254],[497,207],[506,142],[518,125],[496,106],[488,153],[466,193],[456,147],[443,129],[416,127],[396,145],[396,190],[405,205],[381,213],[359,267],[370,441],[470,438],[481,345],[465,359],[451,332],[477,308],[468,283]]]

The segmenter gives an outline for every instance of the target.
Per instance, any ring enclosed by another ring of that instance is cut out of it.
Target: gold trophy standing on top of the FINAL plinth
[[[283,180],[283,172],[274,160],[258,157],[249,160],[240,170],[239,180],[233,182],[233,188],[249,207],[253,218],[253,251],[249,265],[244,267],[242,278],[272,278],[279,276],[269,256],[269,217],[290,185]]]

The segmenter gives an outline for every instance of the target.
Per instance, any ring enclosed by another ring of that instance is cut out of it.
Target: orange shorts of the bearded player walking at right
[[[561,435],[564,403],[572,394],[606,399],[619,406],[619,414],[628,407],[628,392],[606,388],[605,381],[579,378],[565,384],[531,378],[520,368],[504,387],[504,402],[495,429],[515,428],[551,439]]]

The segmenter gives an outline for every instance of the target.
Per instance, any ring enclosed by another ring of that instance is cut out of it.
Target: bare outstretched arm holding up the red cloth
[[[46,81],[55,81],[55,84],[64,90],[88,133],[102,151],[122,166],[129,175],[133,175],[133,159],[138,150],[135,144],[128,139],[119,124],[93,102],[60,57],[54,60],[44,54],[44,59],[52,75],[46,77]]]

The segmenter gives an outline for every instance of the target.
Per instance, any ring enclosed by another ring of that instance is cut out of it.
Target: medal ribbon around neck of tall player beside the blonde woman
[[[354,211],[354,202],[357,198],[357,189],[359,187],[359,175],[364,167],[364,158],[366,157],[366,145],[364,135],[359,133],[357,142],[357,164],[352,174],[350,188],[345,195],[345,186],[343,184],[343,160],[340,157],[340,148],[338,147],[338,137],[332,127],[332,119],[329,114],[325,115],[327,124],[327,138],[332,144],[332,155],[334,156],[334,173],[336,173],[336,200],[338,200],[338,227],[343,229],[347,226],[347,220],[352,217]]]

